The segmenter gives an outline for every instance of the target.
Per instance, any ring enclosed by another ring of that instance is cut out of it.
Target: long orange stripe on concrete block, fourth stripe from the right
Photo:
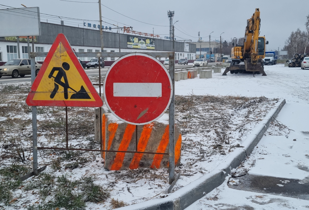
[[[125,133],[123,134],[121,143],[118,148],[119,151],[126,151],[128,149],[130,141],[132,139],[132,135],[135,131],[135,126],[136,125],[128,124],[127,127],[125,128]],[[114,163],[111,167],[111,170],[119,170],[122,166],[124,158],[125,158],[124,152],[116,153],[116,157],[114,159]]]

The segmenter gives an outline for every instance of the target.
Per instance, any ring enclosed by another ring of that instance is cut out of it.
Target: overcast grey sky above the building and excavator
[[[68,0],[74,1],[74,0]],[[97,2],[97,0],[76,0],[80,2]],[[50,15],[77,18],[83,20],[99,20],[98,3],[79,3],[66,2],[61,0],[0,0],[0,4],[12,7],[39,6],[40,12]],[[219,3],[220,2],[220,3]],[[117,24],[119,26],[132,26],[135,31],[160,34],[161,37],[168,36],[169,19],[167,11],[175,11],[174,22],[176,40],[191,39],[196,41],[198,31],[203,40],[220,40],[222,34],[223,40],[230,41],[232,37],[243,37],[247,19],[251,18],[255,8],[260,8],[261,28],[260,36],[265,35],[269,41],[267,49],[284,46],[284,42],[291,31],[297,28],[305,30],[306,16],[308,8],[306,1],[293,4],[290,0],[280,1],[148,1],[148,0],[102,0],[102,4],[115,11],[102,6],[103,21]],[[0,5],[1,6],[1,5]],[[0,7],[4,9],[3,6]],[[127,18],[126,15],[130,18]],[[41,20],[46,22],[46,18],[41,16]],[[107,19],[108,18],[108,19]],[[51,23],[60,24],[59,18],[47,18]],[[145,22],[141,23],[136,20]],[[78,24],[83,22],[98,24],[98,21],[83,21],[64,19],[65,25]],[[55,21],[55,22],[52,22]],[[72,23],[74,22],[74,23]],[[70,24],[69,24],[70,23]],[[150,24],[154,25],[150,25]],[[104,24],[103,24],[104,25]],[[107,25],[105,23],[105,25]],[[105,26],[104,25],[104,26]],[[160,26],[156,26],[160,25]],[[73,25],[72,25],[73,26]],[[109,26],[109,25],[108,25]],[[154,29],[153,29],[154,28]]]

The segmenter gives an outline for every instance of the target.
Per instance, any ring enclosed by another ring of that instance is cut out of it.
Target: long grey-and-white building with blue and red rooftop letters
[[[63,33],[76,52],[100,52],[99,30],[72,27],[53,23],[41,22],[41,35],[34,37],[35,52],[48,52],[58,33]],[[173,51],[173,43],[170,40],[153,37],[142,37],[126,33],[114,33],[103,31],[104,51],[119,52],[170,52]],[[30,37],[31,38],[31,37]],[[31,42],[31,41],[30,41]],[[30,50],[31,49],[30,43]],[[27,37],[19,37],[20,58],[28,58]],[[189,62],[196,59],[196,45],[175,41],[175,60],[186,58]],[[0,65],[10,59],[18,58],[17,37],[0,37]],[[36,61],[44,61],[44,57],[36,57]],[[90,61],[91,58],[80,57],[82,61]],[[163,62],[166,58],[158,58]],[[117,58],[104,58],[105,65],[111,65]]]

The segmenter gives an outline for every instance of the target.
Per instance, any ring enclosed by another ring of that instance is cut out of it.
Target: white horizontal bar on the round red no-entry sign
[[[114,83],[115,97],[162,97],[162,83]]]

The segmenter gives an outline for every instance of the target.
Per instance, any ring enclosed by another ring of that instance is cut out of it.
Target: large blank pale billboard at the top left
[[[0,10],[0,20],[0,36],[41,35],[39,7]]]

